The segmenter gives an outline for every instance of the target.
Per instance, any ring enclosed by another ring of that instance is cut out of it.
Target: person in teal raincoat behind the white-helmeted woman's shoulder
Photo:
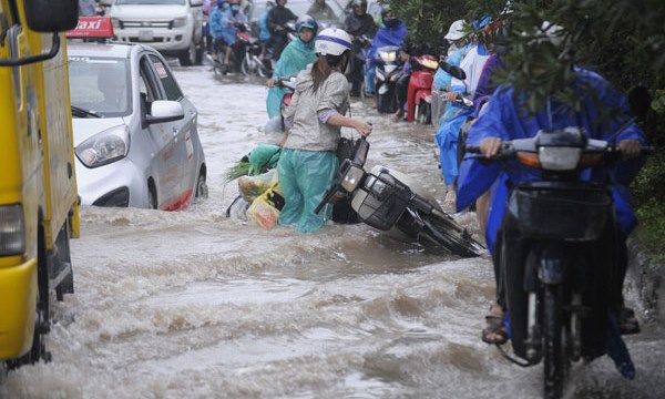
[[[316,20],[309,16],[303,16],[296,23],[296,30],[298,31],[298,38],[284,49],[273,70],[273,78],[267,81],[270,89],[266,99],[269,119],[265,129],[266,133],[270,133],[277,126],[282,127],[282,99],[288,92],[288,89],[276,86],[275,81],[279,78],[295,75],[316,61],[316,53],[314,52],[315,35],[318,30]]]

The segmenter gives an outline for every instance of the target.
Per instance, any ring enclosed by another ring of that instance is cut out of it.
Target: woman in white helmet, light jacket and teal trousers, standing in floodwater
[[[285,205],[280,225],[300,233],[324,226],[330,212],[314,209],[324,198],[339,170],[337,145],[342,126],[367,136],[371,125],[345,116],[349,109],[349,84],[344,75],[351,54],[351,39],[341,29],[324,29],[316,41],[317,61],[298,73],[291,104],[285,110],[287,133],[277,173]]]

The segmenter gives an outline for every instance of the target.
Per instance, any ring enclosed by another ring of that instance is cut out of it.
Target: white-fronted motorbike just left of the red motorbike
[[[380,113],[393,113],[398,109],[397,103],[397,83],[391,80],[392,76],[401,72],[401,60],[399,58],[399,47],[385,45],[377,49],[375,55],[375,91],[377,111]]]

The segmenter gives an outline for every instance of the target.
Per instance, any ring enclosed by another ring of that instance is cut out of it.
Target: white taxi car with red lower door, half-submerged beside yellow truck
[[[196,108],[142,44],[68,44],[83,205],[176,211],[206,197]]]

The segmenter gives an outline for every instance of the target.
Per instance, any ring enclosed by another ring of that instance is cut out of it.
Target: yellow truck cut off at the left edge
[[[78,0],[0,0],[0,368],[49,360],[79,236],[64,31]]]

